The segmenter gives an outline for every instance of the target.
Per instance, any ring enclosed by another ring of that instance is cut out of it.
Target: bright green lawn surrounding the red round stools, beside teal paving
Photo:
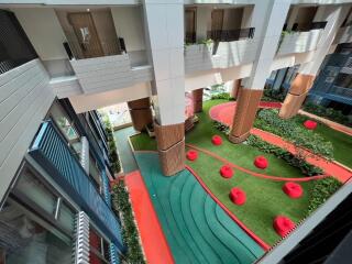
[[[208,116],[209,109],[227,100],[210,100],[204,103],[204,112],[197,114],[199,123],[195,129],[186,134],[186,142],[199,147],[207,148],[230,162],[252,169],[262,172],[253,165],[253,160],[257,155],[265,155],[270,166],[265,174],[279,177],[304,177],[299,169],[289,166],[283,160],[274,155],[264,154],[255,147],[245,144],[232,144],[224,134],[216,130]],[[211,136],[219,134],[223,139],[221,146],[211,143]],[[155,141],[146,134],[133,136],[132,143],[135,150],[155,150]],[[242,172],[235,172],[231,179],[223,179],[219,175],[221,162],[199,153],[196,162],[187,162],[205,180],[210,190],[223,202],[246,227],[262,238],[266,243],[274,244],[279,237],[273,229],[273,219],[277,215],[285,215],[295,222],[305,217],[308,207],[308,190],[311,183],[302,183],[305,195],[302,198],[289,199],[283,191],[284,183],[270,179],[262,179]],[[229,191],[232,187],[241,187],[248,195],[248,201],[242,207],[234,206],[229,199]]]

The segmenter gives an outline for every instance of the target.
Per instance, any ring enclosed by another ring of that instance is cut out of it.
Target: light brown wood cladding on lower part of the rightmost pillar
[[[297,114],[304,103],[309,89],[315,80],[314,75],[298,74],[285,98],[278,116],[283,119],[289,119]]]

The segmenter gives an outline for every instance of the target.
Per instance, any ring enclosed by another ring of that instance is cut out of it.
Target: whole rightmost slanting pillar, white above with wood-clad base
[[[288,119],[297,114],[304,103],[308,91],[319,72],[319,68],[329,53],[333,38],[340,29],[349,9],[342,6],[319,7],[315,21],[327,21],[327,25],[317,45],[317,51],[309,63],[302,64],[298,74],[292,82],[289,92],[279,110],[279,117]]]

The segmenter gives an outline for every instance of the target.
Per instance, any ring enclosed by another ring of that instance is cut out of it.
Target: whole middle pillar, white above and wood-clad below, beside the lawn
[[[250,134],[289,6],[287,0],[270,0],[257,1],[254,7],[251,26],[255,28],[254,38],[258,46],[251,76],[241,81],[243,87],[229,135],[233,143],[243,142]]]

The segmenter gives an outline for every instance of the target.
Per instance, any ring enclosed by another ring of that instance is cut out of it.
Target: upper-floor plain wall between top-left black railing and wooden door
[[[63,29],[52,8],[15,8],[20,21],[36,53],[43,61],[67,58],[63,46]]]

